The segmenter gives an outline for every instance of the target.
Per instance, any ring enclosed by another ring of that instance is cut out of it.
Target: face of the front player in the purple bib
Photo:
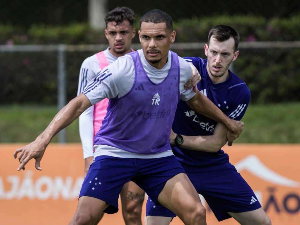
[[[144,56],[149,64],[157,69],[164,67],[170,44],[175,41],[175,31],[167,29],[164,22],[142,22],[139,36]]]

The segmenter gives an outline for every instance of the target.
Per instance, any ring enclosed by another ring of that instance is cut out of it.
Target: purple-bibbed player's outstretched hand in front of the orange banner
[[[20,165],[17,168],[17,170],[25,170],[25,165],[31,160],[32,158],[35,159],[35,168],[37,170],[42,170],[40,167],[41,159],[44,155],[44,152],[46,150],[46,146],[40,143],[38,140],[33,141],[32,143],[17,149],[13,156],[14,158],[18,158]],[[18,153],[20,153],[18,155]]]

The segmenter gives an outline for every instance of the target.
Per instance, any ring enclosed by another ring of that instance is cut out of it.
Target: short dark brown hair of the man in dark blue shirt
[[[214,36],[217,41],[226,41],[229,38],[234,39],[234,52],[238,49],[238,43],[240,42],[240,35],[238,34],[238,31],[232,28],[231,26],[227,25],[217,25],[211,28],[211,30],[208,33],[208,39],[207,43],[209,46],[209,40],[210,38]]]

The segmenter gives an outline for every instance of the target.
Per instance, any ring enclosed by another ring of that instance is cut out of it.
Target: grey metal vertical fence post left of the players
[[[61,110],[66,105],[66,45],[57,46],[57,107]],[[66,142],[66,130],[63,129],[58,133],[58,143]]]

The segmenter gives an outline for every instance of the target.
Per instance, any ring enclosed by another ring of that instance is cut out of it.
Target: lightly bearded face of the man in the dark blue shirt
[[[213,81],[223,82],[227,79],[228,69],[232,61],[238,57],[239,51],[234,52],[234,39],[216,41],[213,36],[210,38],[209,46],[205,44],[205,55],[207,56],[207,70]],[[225,76],[223,78],[223,75]],[[224,79],[224,80],[223,80]]]

